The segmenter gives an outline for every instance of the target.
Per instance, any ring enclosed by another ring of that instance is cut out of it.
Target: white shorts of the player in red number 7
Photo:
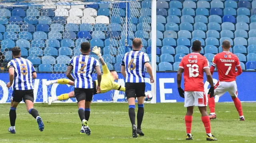
[[[238,96],[236,81],[218,81],[214,86],[214,95],[219,97],[228,92],[231,96]]]

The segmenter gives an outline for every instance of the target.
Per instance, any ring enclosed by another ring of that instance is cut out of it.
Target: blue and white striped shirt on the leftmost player
[[[31,90],[34,89],[34,84],[32,82],[32,73],[36,72],[33,64],[28,60],[21,57],[12,59],[8,65],[14,67],[14,90]]]

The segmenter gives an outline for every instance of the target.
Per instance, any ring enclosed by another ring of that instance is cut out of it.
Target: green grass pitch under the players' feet
[[[218,143],[256,142],[256,103],[242,103],[246,121],[233,103],[217,103],[217,119],[211,121],[212,134]],[[35,104],[44,121],[40,132],[36,119],[26,111],[25,104],[16,110],[16,134],[10,127],[10,104],[0,104],[0,143],[183,143],[186,137],[183,103],[145,104],[142,122],[144,137],[132,138],[127,103],[93,103],[89,119],[90,136],[80,135],[81,121],[76,104]],[[136,106],[136,110],[137,110]],[[192,122],[193,141],[206,142],[206,133],[198,108]]]

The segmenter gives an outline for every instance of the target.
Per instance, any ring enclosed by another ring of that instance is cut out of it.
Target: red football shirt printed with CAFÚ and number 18
[[[204,91],[204,69],[210,68],[206,57],[199,53],[190,53],[180,62],[184,69],[184,91]]]

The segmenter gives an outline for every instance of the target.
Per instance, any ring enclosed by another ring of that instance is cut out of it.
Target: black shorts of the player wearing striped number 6
[[[145,95],[145,82],[140,83],[132,83],[132,82],[126,82],[125,84],[125,94],[127,99],[131,97],[141,97],[146,96]]]

